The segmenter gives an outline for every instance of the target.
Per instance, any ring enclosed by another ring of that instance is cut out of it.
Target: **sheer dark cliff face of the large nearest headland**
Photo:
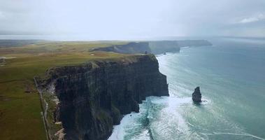
[[[158,68],[154,55],[138,55],[50,69],[44,85],[52,83],[59,99],[53,122],[62,122],[66,139],[108,139],[145,97],[169,95]]]

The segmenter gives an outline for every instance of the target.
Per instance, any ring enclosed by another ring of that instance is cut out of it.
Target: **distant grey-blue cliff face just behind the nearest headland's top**
[[[106,52],[117,52],[117,53],[128,53],[135,54],[145,52],[150,53],[148,42],[131,42],[124,45],[111,45],[106,48],[95,48],[92,51],[106,51]]]

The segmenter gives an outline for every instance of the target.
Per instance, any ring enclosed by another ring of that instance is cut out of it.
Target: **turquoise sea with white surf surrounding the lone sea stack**
[[[265,41],[212,42],[157,56],[170,97],[148,97],[110,139],[265,139]],[[191,99],[196,86],[200,106]]]

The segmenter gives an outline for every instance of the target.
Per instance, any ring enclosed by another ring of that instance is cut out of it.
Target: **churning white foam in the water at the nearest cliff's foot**
[[[114,126],[113,134],[108,140],[124,139],[124,137],[131,132],[129,130],[137,130],[138,127],[141,127],[141,123],[138,122],[138,119],[143,117],[147,117],[152,121],[150,130],[148,130],[148,128],[143,129],[140,134],[131,137],[131,139],[150,139],[150,131],[155,132],[155,134],[162,134],[161,136],[154,136],[161,137],[161,139],[171,137],[174,133],[172,130],[176,130],[178,133],[182,134],[187,133],[189,132],[189,126],[185,118],[176,111],[181,104],[192,104],[192,100],[190,98],[178,97],[148,97],[146,101],[141,104],[140,113],[130,113],[122,118],[120,125]],[[157,106],[164,106],[162,110],[159,110],[160,117],[162,118],[157,118],[159,116],[154,116],[152,114],[155,109],[157,109]],[[148,113],[148,111],[150,111],[148,116],[144,116],[143,114]]]

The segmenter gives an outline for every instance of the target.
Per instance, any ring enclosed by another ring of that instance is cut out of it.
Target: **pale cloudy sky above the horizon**
[[[0,0],[0,34],[265,37],[265,0]]]

